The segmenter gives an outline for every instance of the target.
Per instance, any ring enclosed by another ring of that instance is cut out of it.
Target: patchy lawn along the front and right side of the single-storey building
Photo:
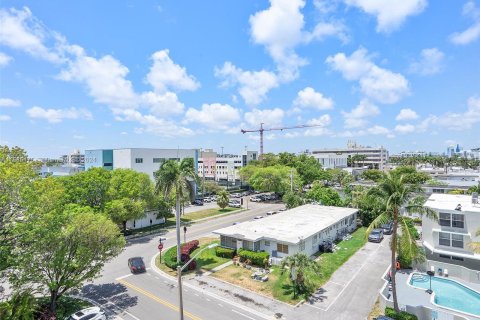
[[[324,285],[342,264],[365,245],[367,241],[365,230],[360,228],[352,234],[352,239],[338,243],[337,246],[341,249],[336,252],[318,255],[321,273],[315,274],[312,279],[317,288]],[[290,304],[296,304],[305,298],[305,296],[293,298],[293,286],[288,272],[282,274],[279,267],[272,267],[271,270],[267,282],[252,280],[250,278],[252,270],[234,265],[217,271],[212,276]]]

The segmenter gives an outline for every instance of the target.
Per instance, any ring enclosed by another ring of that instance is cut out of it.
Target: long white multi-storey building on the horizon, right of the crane
[[[333,156],[335,155],[336,158]],[[347,148],[332,148],[332,149],[321,149],[321,150],[312,150],[312,156],[316,159],[319,159],[319,162],[324,161],[328,164],[329,161],[335,165],[335,161],[338,164],[343,163],[343,159],[348,159],[353,155],[364,155],[366,159],[361,161],[361,165],[369,166],[372,169],[383,170],[386,163],[388,162],[388,151],[384,147],[363,147],[359,146],[354,142],[349,142]],[[331,160],[329,157],[332,157]],[[340,165],[337,165],[340,167]],[[346,167],[346,165],[345,165]],[[327,168],[327,167],[326,167]]]

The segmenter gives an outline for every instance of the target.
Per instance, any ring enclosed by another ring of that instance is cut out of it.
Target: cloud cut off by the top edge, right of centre
[[[347,5],[362,9],[377,18],[377,32],[389,33],[398,29],[408,16],[421,13],[427,0],[344,0]]]

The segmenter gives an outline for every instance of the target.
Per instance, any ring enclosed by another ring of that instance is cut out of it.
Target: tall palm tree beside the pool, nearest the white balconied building
[[[389,221],[393,222],[391,247],[391,277],[393,305],[397,312],[400,312],[397,301],[397,291],[395,284],[397,248],[402,246],[402,252],[410,257],[419,255],[419,248],[415,238],[408,228],[406,219],[400,214],[400,209],[405,208],[407,212],[416,212],[427,217],[437,219],[434,210],[423,206],[424,198],[420,195],[422,189],[417,184],[407,184],[404,182],[404,175],[388,173],[384,180],[380,181],[377,187],[368,191],[369,195],[379,197],[383,201],[383,210],[367,229],[367,235],[373,228],[378,227]],[[402,239],[398,240],[398,227],[402,230]]]

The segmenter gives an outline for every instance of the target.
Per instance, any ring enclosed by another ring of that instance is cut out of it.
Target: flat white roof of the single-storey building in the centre
[[[277,240],[296,244],[354,214],[358,209],[306,204],[263,219],[213,231],[237,239]]]

